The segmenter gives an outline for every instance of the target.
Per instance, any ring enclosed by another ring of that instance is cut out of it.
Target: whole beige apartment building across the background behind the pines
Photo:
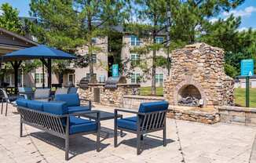
[[[120,28],[121,29],[121,28]],[[121,29],[119,32],[123,32]],[[12,33],[11,33],[12,34]],[[12,36],[13,37],[13,36]],[[122,37],[122,36],[121,36]],[[25,39],[25,38],[24,38]],[[148,39],[144,38],[137,38],[137,36],[129,33],[123,32],[123,47],[121,50],[121,59],[123,61],[130,60],[130,62],[126,63],[126,68],[131,72],[129,77],[127,78],[127,82],[129,84],[140,83],[141,86],[150,86],[152,85],[152,77],[151,77],[151,70],[150,73],[144,74],[143,70],[137,65],[141,62],[146,60],[144,56],[140,56],[136,53],[131,53],[130,50],[134,47],[138,47],[141,45],[145,45],[148,43]],[[163,42],[165,39],[164,34],[159,35],[156,38],[156,42]],[[29,38],[28,38],[29,40]],[[31,41],[33,42],[33,41]],[[93,54],[93,70],[94,74],[97,77],[98,82],[104,82],[107,80],[108,75],[110,74],[108,69],[112,65],[112,61],[108,58],[108,37],[104,38],[93,38],[93,44],[96,45],[100,50],[97,53]],[[81,56],[86,56],[88,53],[88,47],[83,45],[77,49],[77,54]],[[152,52],[148,53],[145,56],[152,56]],[[163,50],[159,50],[156,53],[156,56],[164,56],[166,57],[166,53]],[[147,59],[148,65],[152,65],[152,60]],[[35,86],[35,87],[42,87],[42,83],[47,83],[48,74],[42,72],[42,67],[38,67],[35,70],[24,73],[21,70],[19,71],[19,86]],[[52,83],[58,84],[62,82],[62,85],[74,84],[77,85],[79,81],[84,78],[88,77],[90,73],[89,67],[78,67],[75,63],[71,63],[67,66],[66,71],[64,72],[63,76],[60,77],[59,74],[52,74]],[[125,74],[125,72],[121,72]],[[44,76],[43,76],[44,75]],[[167,69],[163,67],[156,68],[156,75],[155,75],[155,82],[157,86],[163,85],[163,81],[166,79]],[[141,79],[143,77],[143,79]],[[14,74],[11,70],[9,73],[5,75],[5,82],[9,83],[9,86],[14,85]]]

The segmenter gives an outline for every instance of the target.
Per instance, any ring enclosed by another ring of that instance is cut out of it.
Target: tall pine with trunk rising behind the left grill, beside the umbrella
[[[101,51],[93,38],[107,36],[113,25],[122,23],[127,16],[126,2],[129,1],[31,0],[31,15],[38,17],[34,31],[39,42],[68,52],[75,52],[77,47],[85,45],[93,82],[93,53]]]

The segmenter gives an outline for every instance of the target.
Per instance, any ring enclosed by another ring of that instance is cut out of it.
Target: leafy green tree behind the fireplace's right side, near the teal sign
[[[256,32],[252,29],[239,31],[240,17],[229,16],[214,23],[205,24],[205,32],[199,41],[225,50],[225,72],[235,78],[240,74],[240,60],[255,58]]]

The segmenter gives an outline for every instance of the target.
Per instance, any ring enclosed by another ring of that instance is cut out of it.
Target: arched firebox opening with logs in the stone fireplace
[[[201,93],[195,85],[184,85],[178,91],[178,105],[188,107],[199,107],[203,104]]]

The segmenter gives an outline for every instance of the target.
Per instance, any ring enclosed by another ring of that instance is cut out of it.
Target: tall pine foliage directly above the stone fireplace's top
[[[244,0],[170,0],[172,24],[170,27],[171,48],[175,49],[198,41],[205,31],[210,18],[221,12],[229,12],[242,4]]]

